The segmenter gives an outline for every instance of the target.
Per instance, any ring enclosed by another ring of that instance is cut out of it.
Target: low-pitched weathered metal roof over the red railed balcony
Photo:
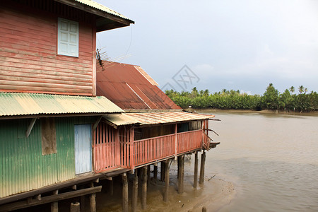
[[[193,120],[211,119],[213,115],[196,114],[189,112],[141,112],[126,113],[130,118],[136,119],[141,124],[165,124]]]

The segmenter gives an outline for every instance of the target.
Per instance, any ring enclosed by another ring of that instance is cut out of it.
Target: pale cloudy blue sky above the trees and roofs
[[[163,90],[318,91],[316,0],[97,1],[135,21],[98,33],[97,47]]]

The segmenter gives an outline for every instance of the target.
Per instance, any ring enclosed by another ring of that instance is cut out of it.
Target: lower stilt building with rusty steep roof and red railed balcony
[[[105,115],[94,132],[96,172],[134,169],[210,148],[213,116],[182,111],[140,66],[104,64],[97,69],[97,93],[126,113]]]

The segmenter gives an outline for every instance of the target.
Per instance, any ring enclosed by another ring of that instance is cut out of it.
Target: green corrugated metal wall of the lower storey
[[[25,137],[30,120],[0,120],[0,198],[74,178],[74,124],[95,118],[56,118],[57,153],[50,155],[42,155],[41,119]]]

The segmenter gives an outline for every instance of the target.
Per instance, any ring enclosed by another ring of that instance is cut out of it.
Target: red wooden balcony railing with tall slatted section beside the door
[[[203,129],[134,141],[134,129],[117,131],[102,124],[94,135],[94,170],[134,169],[182,153],[208,150],[211,139]]]

